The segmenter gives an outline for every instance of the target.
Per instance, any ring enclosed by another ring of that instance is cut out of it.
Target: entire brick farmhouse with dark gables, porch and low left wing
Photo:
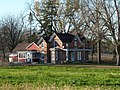
[[[92,52],[88,44],[85,37],[79,34],[54,33],[50,37],[41,37],[37,43],[18,44],[9,61],[53,64],[86,62]]]

